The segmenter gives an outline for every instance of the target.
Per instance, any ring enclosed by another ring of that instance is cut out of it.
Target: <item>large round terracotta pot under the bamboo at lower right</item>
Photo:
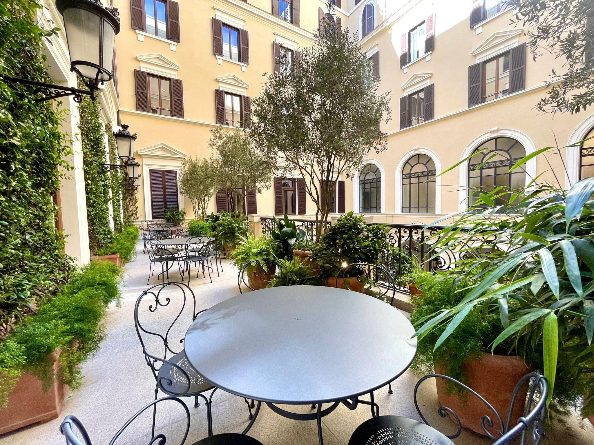
[[[522,357],[507,355],[483,354],[480,360],[472,360],[462,366],[466,374],[466,386],[469,386],[484,397],[493,408],[499,412],[503,422],[507,416],[510,405],[511,393],[517,382],[530,372]],[[435,372],[443,374],[439,367]],[[489,433],[499,437],[501,426],[497,416],[475,396],[468,394],[467,399],[460,400],[456,394],[445,394],[445,379],[435,379],[437,385],[437,398],[441,406],[452,409],[460,418],[463,427],[475,433],[486,436],[481,425],[481,416],[488,415],[493,421],[493,427],[488,428]],[[526,399],[527,384],[520,389],[514,406],[512,419],[522,417]]]

